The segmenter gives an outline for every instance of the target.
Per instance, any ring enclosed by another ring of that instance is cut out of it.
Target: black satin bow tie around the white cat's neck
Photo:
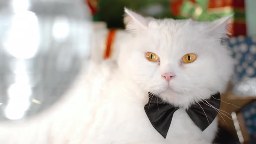
[[[148,95],[148,104],[145,105],[144,110],[153,127],[166,138],[174,112],[179,108],[168,104],[150,92],[148,92]],[[186,112],[197,127],[203,131],[218,115],[217,109],[220,108],[220,93],[211,95],[210,99],[202,101],[191,105]]]

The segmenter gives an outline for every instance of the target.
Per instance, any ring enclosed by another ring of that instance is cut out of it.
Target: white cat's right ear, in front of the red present
[[[227,34],[230,35],[230,24],[228,24],[228,21],[232,18],[233,15],[225,16],[223,18],[220,18],[218,20],[215,20],[211,22],[209,34],[210,36],[213,36],[217,39],[224,39],[227,37]]]

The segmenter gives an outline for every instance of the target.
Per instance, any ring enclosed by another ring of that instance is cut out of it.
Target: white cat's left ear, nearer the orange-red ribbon
[[[137,33],[148,28],[149,19],[125,8],[124,23],[126,30]]]

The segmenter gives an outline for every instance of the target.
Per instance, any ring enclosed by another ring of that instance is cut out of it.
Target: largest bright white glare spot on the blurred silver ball
[[[30,59],[35,56],[38,45],[39,30],[35,13],[25,11],[15,14],[4,43],[5,49],[18,59]]]

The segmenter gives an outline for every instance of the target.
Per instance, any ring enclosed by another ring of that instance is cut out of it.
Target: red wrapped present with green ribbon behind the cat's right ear
[[[176,18],[212,21],[234,14],[230,20],[233,36],[246,35],[244,0],[171,0],[171,13]]]

